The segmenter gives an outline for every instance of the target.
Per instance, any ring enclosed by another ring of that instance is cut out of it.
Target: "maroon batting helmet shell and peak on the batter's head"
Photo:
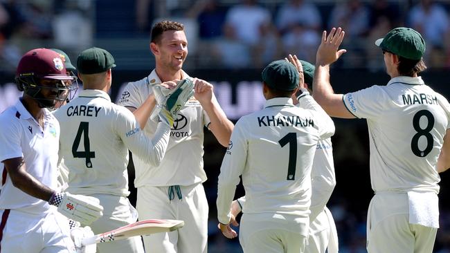
[[[33,76],[46,79],[72,80],[60,54],[47,48],[36,48],[21,57],[16,77]]]

